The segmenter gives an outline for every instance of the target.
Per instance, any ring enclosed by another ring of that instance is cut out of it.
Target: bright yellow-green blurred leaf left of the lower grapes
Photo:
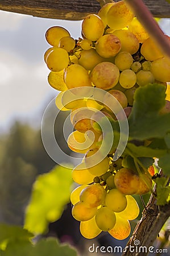
[[[58,220],[69,202],[72,184],[70,168],[56,166],[36,179],[24,227],[35,234],[44,233],[48,222]]]

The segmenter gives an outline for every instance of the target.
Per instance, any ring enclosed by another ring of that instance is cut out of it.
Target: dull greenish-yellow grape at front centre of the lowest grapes
[[[95,219],[98,228],[102,231],[113,229],[116,222],[115,213],[108,207],[101,207],[98,209]]]

